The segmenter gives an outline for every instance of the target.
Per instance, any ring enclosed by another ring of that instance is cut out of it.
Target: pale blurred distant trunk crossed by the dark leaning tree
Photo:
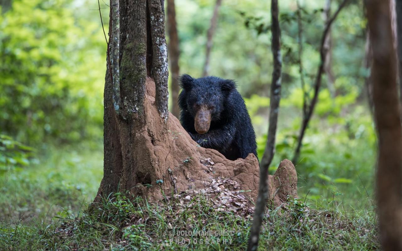
[[[327,23],[331,17],[331,2],[332,2],[331,0],[325,0],[325,6],[324,6],[324,22],[325,23]],[[332,98],[334,98],[336,96],[336,90],[335,90],[335,85],[334,85],[335,76],[334,76],[334,73],[332,72],[332,32],[331,32],[331,29],[329,29],[328,34],[325,38],[324,47],[326,47],[324,71],[327,76],[328,90],[330,91]]]

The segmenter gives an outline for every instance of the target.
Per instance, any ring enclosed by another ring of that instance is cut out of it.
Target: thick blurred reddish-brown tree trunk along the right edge
[[[402,126],[390,0],[366,0],[378,137],[377,206],[384,250],[402,250]]]

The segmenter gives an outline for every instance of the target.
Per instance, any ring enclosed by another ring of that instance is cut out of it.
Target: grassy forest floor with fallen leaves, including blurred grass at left
[[[86,146],[47,153],[45,161],[0,180],[0,250],[246,249],[254,204],[241,195],[187,191],[148,203],[115,194],[89,213],[103,151]],[[312,205],[307,197],[267,211],[260,250],[380,249],[372,206]]]

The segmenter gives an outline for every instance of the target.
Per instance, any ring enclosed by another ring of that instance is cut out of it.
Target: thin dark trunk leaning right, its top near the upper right
[[[322,74],[324,73],[324,63],[325,63],[325,58],[326,58],[326,47],[324,46],[325,39],[327,37],[329,29],[331,28],[332,23],[338,16],[339,12],[343,9],[343,7],[345,7],[345,5],[347,4],[348,1],[349,0],[344,0],[339,5],[338,10],[336,10],[335,14],[332,16],[332,18],[330,18],[328,20],[328,22],[325,25],[324,33],[322,34],[322,37],[321,37],[321,46],[320,46],[321,61],[320,61],[320,66],[318,67],[318,71],[316,74],[316,79],[314,81],[314,95],[313,95],[313,98],[312,98],[309,106],[307,107],[307,114],[306,114],[306,116],[304,116],[304,118],[301,122],[301,129],[300,129],[299,137],[297,139],[297,147],[295,149],[295,153],[294,153],[293,159],[292,159],[293,163],[296,163],[297,160],[299,159],[299,154],[300,154],[300,149],[301,149],[301,145],[303,142],[303,137],[304,137],[304,134],[306,133],[308,123],[310,122],[310,119],[313,115],[314,108],[315,108],[317,100],[318,100],[318,92],[320,91],[320,87],[321,87]]]

